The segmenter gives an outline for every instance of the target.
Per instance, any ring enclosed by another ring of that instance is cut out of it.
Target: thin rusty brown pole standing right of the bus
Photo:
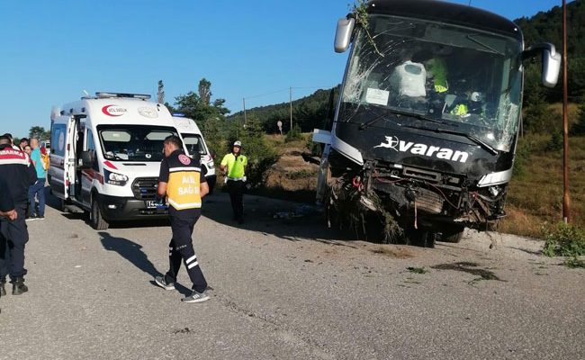
[[[567,1],[563,0],[563,220],[571,221],[569,194],[569,121],[567,119]]]

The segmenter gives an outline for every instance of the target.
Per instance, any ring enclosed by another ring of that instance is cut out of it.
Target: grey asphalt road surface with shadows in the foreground
[[[535,240],[382,246],[317,215],[274,219],[291,202],[247,196],[243,225],[225,194],[203,206],[193,237],[212,290],[195,304],[180,302],[184,269],[178,291],[152,282],[165,222],[95,231],[52,208],[29,222],[30,291],[0,299],[0,358],[585,358],[585,270]]]

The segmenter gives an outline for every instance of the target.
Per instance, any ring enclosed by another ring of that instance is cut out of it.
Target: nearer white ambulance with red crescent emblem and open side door
[[[179,133],[166,106],[149,98],[96,93],[51,113],[51,192],[89,212],[94,229],[166,217],[155,197],[163,140]]]

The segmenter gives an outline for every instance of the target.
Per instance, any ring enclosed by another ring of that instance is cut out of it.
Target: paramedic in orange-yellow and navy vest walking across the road
[[[202,174],[199,157],[184,154],[181,139],[172,135],[164,141],[165,158],[160,163],[157,195],[166,196],[168,215],[171,220],[173,238],[168,244],[169,269],[164,276],[156,276],[155,283],[165,290],[174,290],[176,275],[181,261],[193,283],[193,293],[182,302],[205,302],[207,282],[193,250],[193,227],[201,216],[202,197],[209,193],[209,186]]]

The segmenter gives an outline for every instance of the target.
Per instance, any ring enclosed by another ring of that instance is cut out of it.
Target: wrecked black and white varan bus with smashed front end
[[[432,246],[505,216],[523,90],[539,56],[554,86],[561,56],[525,49],[515,23],[440,1],[376,0],[339,20],[350,49],[325,143],[318,198],[329,221],[366,237]]]

